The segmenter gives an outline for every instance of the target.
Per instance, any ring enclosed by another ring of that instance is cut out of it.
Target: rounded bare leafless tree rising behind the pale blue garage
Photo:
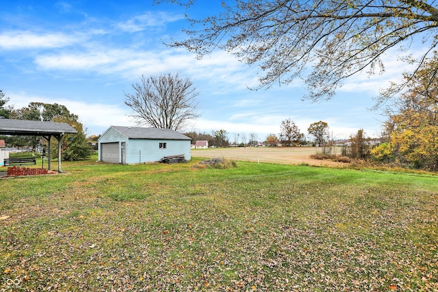
[[[140,78],[132,85],[134,93],[125,93],[125,105],[140,125],[181,131],[189,120],[198,118],[196,96],[199,93],[188,78],[178,74]]]

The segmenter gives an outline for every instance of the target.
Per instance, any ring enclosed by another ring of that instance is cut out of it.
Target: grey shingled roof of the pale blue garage
[[[192,140],[192,138],[171,129],[120,126],[111,126],[110,129],[111,128],[125,135],[129,139]]]

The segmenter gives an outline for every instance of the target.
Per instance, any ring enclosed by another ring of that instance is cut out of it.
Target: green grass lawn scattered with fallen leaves
[[[438,291],[437,176],[94,160],[0,181],[0,291]]]

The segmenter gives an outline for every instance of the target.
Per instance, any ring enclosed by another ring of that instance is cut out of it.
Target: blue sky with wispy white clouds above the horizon
[[[220,1],[198,1],[190,10],[151,0],[0,1],[0,89],[15,108],[33,101],[65,105],[88,135],[98,135],[111,125],[134,125],[124,92],[132,92],[141,75],[178,72],[200,92],[201,118],[188,130],[225,129],[230,140],[237,133],[256,133],[263,141],[290,118],[306,134],[319,120],[329,124],[334,137],[359,129],[372,137],[380,134],[385,118],[368,108],[378,88],[400,78],[403,64],[396,54],[384,57],[384,75],[355,76],[330,101],[302,101],[300,80],[251,91],[248,86],[257,85],[256,66],[223,51],[196,59],[162,43],[185,37],[185,14],[202,16],[220,7]]]

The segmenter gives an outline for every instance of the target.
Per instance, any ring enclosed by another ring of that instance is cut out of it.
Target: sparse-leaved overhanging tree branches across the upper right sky
[[[155,0],[190,7],[196,0]],[[260,87],[305,79],[312,100],[331,98],[339,85],[359,72],[383,72],[381,57],[412,42],[426,49],[420,66],[437,46],[435,1],[234,0],[203,19],[188,16],[188,38],[170,46],[200,57],[216,48],[261,68]],[[312,70],[309,70],[312,68]],[[435,72],[437,67],[435,67]],[[413,70],[411,77],[415,77]],[[400,88],[399,88],[400,89]],[[394,94],[394,92],[393,92]]]

